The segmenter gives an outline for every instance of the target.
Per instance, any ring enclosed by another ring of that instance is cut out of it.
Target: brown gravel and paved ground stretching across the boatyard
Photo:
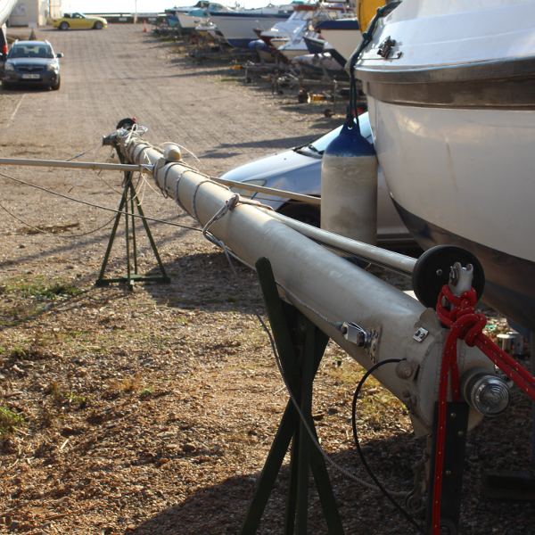
[[[42,29],[37,37],[65,54],[62,88],[0,92],[2,156],[65,160],[86,152],[80,160],[110,161],[101,137],[134,115],[153,143],[182,144],[202,171],[218,174],[340,121],[244,85],[223,62],[193,63],[140,26]],[[254,316],[263,313],[254,273],[238,268],[236,282],[201,233],[156,222],[172,283],[96,288],[113,214],[95,205],[117,207],[119,173],[0,173],[0,532],[238,532],[287,400]],[[151,185],[139,191],[147,215],[194,226]],[[140,271],[157,274],[140,242]],[[124,273],[124,243],[121,227],[110,273]],[[367,479],[350,429],[362,374],[329,345],[314,417],[325,451]],[[535,532],[530,503],[481,496],[485,471],[529,468],[530,410],[515,395],[505,416],[471,433],[462,533]],[[409,490],[421,444],[406,411],[371,382],[360,416],[370,465],[390,489]],[[415,532],[378,491],[329,472],[346,533]],[[284,532],[287,483],[284,465],[259,533]],[[312,487],[309,532],[325,533]]]

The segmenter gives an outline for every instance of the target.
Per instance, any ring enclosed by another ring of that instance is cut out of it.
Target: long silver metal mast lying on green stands
[[[301,235],[278,214],[251,205],[182,161],[167,161],[141,134],[117,131],[126,161],[152,166],[162,193],[196,218],[211,241],[250,267],[268,258],[284,300],[366,369],[386,358],[405,359],[375,376],[407,405],[416,433],[431,432],[447,333],[434,310]],[[479,350],[463,347],[459,360],[461,374],[471,368],[494,373]],[[470,426],[480,419],[472,409]]]

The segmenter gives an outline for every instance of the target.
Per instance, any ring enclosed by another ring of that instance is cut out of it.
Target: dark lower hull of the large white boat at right
[[[405,210],[394,201],[403,222],[423,248],[433,245],[457,245],[471,251],[485,270],[483,300],[493,309],[506,310],[510,319],[535,329],[535,264],[475,243],[436,226]]]

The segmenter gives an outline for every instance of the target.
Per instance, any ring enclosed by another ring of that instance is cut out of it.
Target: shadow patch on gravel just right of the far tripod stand
[[[192,253],[165,265],[171,284],[147,284],[159,304],[177,309],[252,312],[263,310],[256,273],[232,260],[235,278],[223,252]],[[147,275],[159,276],[158,268]]]

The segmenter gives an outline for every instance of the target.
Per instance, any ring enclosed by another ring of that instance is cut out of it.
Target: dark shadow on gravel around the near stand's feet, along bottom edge
[[[468,435],[459,533],[463,535],[533,533],[535,506],[532,502],[492,500],[481,496],[481,477],[485,471],[495,470],[500,465],[510,463],[512,458],[514,464],[518,464],[512,466],[514,469],[518,469],[519,466],[525,469],[526,463],[529,465],[530,440],[527,429],[529,425],[523,425],[523,429],[520,430],[518,422],[518,418],[526,422],[529,414],[529,402],[520,402],[513,408],[513,414],[498,416],[498,423],[496,420],[486,420]],[[325,429],[327,425],[328,422],[318,425],[320,437],[322,427]],[[500,430],[498,434],[497,425]],[[373,429],[368,429],[368,432],[393,431],[372,427]],[[421,440],[416,440],[412,433],[394,433],[385,439],[366,440],[363,450],[368,464],[387,489],[408,491],[412,487],[412,466],[422,455],[422,443]],[[517,438],[522,440],[520,447]],[[202,458],[202,456],[197,457]],[[359,478],[370,481],[355,449],[344,449],[333,454],[331,459],[347,471],[356,473]],[[194,453],[191,461],[195,463]],[[328,471],[346,535],[416,533],[416,529],[407,523],[379,490],[363,487],[332,466],[328,466]],[[240,530],[258,477],[259,473],[249,473],[205,487],[186,498],[183,503],[161,511],[141,523],[134,531],[128,532],[136,535],[235,534]],[[284,505],[288,482],[289,470],[285,465],[277,477],[275,490],[269,498],[262,523],[257,531],[259,535],[284,533]],[[327,532],[325,520],[316,489],[312,484],[310,488],[312,490],[309,494],[308,532],[323,535]],[[417,522],[422,524],[423,513],[416,516]]]

